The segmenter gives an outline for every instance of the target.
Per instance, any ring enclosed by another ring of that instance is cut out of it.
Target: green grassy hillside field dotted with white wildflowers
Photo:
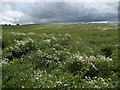
[[[2,87],[119,87],[115,23],[2,26]]]

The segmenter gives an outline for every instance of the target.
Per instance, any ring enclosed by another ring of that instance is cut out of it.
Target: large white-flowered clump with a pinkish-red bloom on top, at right
[[[112,70],[112,64],[111,58],[106,58],[101,55],[80,55],[79,53],[73,54],[65,63],[70,72],[74,74],[81,73],[83,77],[89,76],[91,78],[99,75],[104,76],[104,74],[109,75],[109,72]]]

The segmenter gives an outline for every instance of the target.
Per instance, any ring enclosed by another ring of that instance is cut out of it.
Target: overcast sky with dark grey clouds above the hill
[[[0,6],[0,24],[118,21],[118,2],[2,2]]]

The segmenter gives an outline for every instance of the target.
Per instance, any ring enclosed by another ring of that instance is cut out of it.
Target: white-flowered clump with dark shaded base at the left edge
[[[11,45],[3,52],[3,57],[12,60],[13,58],[19,58],[26,54],[29,50],[35,48],[35,42],[31,38],[25,38],[24,40],[14,40],[15,45]]]

